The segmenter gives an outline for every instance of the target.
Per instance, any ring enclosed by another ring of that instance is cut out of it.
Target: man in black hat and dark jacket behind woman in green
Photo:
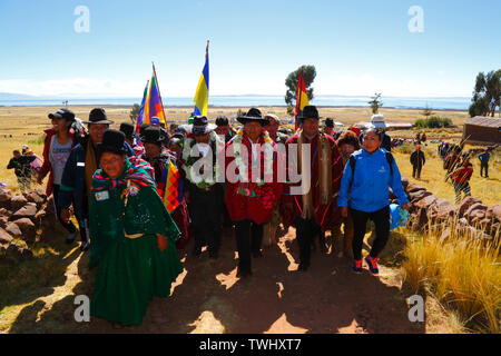
[[[114,121],[108,120],[105,109],[96,108],[89,113],[88,125],[89,135],[80,144],[73,147],[66,162],[61,178],[59,191],[59,206],[61,207],[61,219],[69,221],[69,207],[73,205],[75,216],[80,228],[81,246],[80,249],[89,249],[89,189],[92,182],[92,176],[99,168],[97,156],[97,145],[101,144],[102,135]],[[124,142],[127,149],[127,156],[135,156],[132,148]],[[67,240],[72,243],[72,240]]]

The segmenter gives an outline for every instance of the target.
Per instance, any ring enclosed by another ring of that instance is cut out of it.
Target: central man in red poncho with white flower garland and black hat
[[[225,201],[235,224],[237,277],[246,277],[252,275],[250,253],[254,258],[262,257],[263,226],[272,219],[283,184],[277,179],[275,142],[263,129],[268,120],[252,108],[238,121],[244,129],[226,144]]]

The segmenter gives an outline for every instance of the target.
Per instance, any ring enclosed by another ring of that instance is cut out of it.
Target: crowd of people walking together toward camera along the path
[[[97,265],[91,315],[120,325],[140,324],[150,298],[169,295],[183,270],[176,247],[191,236],[195,258],[207,246],[208,257],[217,259],[229,222],[237,276],[246,278],[278,221],[296,229],[301,271],[312,264],[314,239],[325,244],[326,230],[340,238],[344,225],[338,256],[353,256],[358,274],[372,219],[376,237],[365,263],[376,275],[390,234],[389,188],[407,209],[396,162],[381,148],[385,134],[369,128],[360,141],[360,132],[347,130],[336,142],[320,130],[314,106],[304,108],[291,137],[279,130],[276,116],[256,108],[237,118],[237,130],[224,117],[213,125],[196,116],[169,130],[144,125],[135,135],[127,123],[110,129],[114,122],[97,108],[84,122],[85,135],[72,129],[70,110],[49,118],[39,179],[49,174],[47,190],[68,243],[77,235],[69,216],[73,206],[81,249],[90,248],[90,265]]]

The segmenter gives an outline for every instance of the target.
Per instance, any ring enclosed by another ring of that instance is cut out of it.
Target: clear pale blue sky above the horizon
[[[191,97],[207,40],[210,95],[282,96],[313,65],[315,95],[471,97],[501,68],[501,1],[0,0],[0,92],[141,97],[154,61]]]

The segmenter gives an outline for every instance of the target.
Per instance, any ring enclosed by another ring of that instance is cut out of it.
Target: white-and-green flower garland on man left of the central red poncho
[[[198,157],[191,157],[190,152],[193,147],[197,144],[197,141],[190,137],[185,138],[184,141],[184,147],[183,147],[183,169],[186,172],[186,179],[188,179],[191,184],[196,185],[198,188],[206,188],[206,187],[210,187],[216,182],[215,177],[217,177],[217,172],[219,171],[219,165],[216,158],[216,154],[217,154],[217,144],[223,144],[223,141],[220,140],[219,136],[217,136],[216,131],[210,131],[209,134],[209,146],[212,149],[212,154],[213,154],[213,175],[210,177],[208,177],[207,180],[205,179],[197,179],[195,180],[194,176],[193,176],[193,165],[195,165],[195,162],[199,159]],[[214,158],[215,162],[214,162]]]

